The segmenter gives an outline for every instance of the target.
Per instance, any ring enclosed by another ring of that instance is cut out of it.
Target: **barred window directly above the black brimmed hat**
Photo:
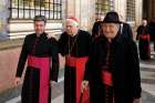
[[[114,10],[114,0],[96,0],[96,19],[104,16],[106,12]]]

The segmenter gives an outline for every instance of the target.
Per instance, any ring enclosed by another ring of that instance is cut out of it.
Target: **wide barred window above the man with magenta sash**
[[[10,19],[33,19],[42,14],[49,20],[62,19],[62,0],[10,0]]]

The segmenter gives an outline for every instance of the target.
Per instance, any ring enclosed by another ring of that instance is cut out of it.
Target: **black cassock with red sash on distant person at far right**
[[[151,41],[148,25],[137,28],[138,50],[142,60],[151,59]]]

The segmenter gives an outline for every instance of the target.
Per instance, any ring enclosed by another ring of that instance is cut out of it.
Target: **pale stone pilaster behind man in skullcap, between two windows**
[[[95,20],[95,0],[68,0],[66,17],[78,18],[80,28],[90,31]]]

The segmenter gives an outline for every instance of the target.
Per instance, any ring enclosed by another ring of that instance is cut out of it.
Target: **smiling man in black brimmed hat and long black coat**
[[[137,48],[120,33],[118,16],[107,12],[102,38],[92,44],[85,80],[90,81],[91,103],[141,103]],[[83,81],[82,89],[87,82]]]

